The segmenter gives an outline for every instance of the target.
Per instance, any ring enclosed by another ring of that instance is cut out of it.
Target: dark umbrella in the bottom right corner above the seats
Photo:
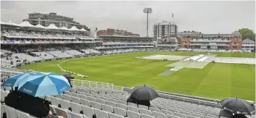
[[[247,101],[240,98],[226,98],[220,101],[221,109],[230,111],[233,114],[252,115],[255,113],[255,107]]]

